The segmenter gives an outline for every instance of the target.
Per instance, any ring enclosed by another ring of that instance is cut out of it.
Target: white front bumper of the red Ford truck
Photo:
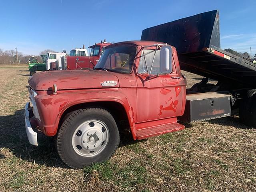
[[[26,133],[28,137],[28,141],[30,144],[38,146],[37,143],[37,132],[35,132],[31,126],[31,123],[29,121],[29,108],[30,108],[30,102],[26,103],[25,106],[25,128],[26,128]]]

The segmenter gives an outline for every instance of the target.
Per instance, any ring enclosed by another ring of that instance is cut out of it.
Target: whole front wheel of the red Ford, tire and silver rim
[[[56,146],[64,163],[82,168],[110,158],[119,142],[112,115],[101,108],[89,108],[68,114],[58,131]]]

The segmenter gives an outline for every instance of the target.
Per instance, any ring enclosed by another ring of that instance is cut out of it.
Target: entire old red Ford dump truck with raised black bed
[[[38,132],[56,136],[63,162],[82,168],[114,154],[124,121],[141,140],[184,129],[179,121],[230,116],[240,105],[240,118],[256,126],[256,66],[218,47],[218,19],[212,11],[148,28],[141,41],[106,47],[94,70],[34,74],[25,107],[30,144],[38,145]],[[186,90],[180,67],[205,78]]]

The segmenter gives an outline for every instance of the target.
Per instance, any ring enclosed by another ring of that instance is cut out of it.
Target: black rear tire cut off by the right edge
[[[239,118],[240,122],[247,126],[255,126],[253,112],[255,111],[256,89],[248,90],[240,102]]]

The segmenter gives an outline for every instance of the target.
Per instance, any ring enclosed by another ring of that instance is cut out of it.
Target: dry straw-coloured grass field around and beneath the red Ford
[[[127,132],[114,156],[81,170],[58,157],[54,139],[31,146],[24,127],[27,66],[0,65],[0,191],[256,191],[256,131],[231,117],[133,141]],[[200,76],[184,72],[188,86]]]

